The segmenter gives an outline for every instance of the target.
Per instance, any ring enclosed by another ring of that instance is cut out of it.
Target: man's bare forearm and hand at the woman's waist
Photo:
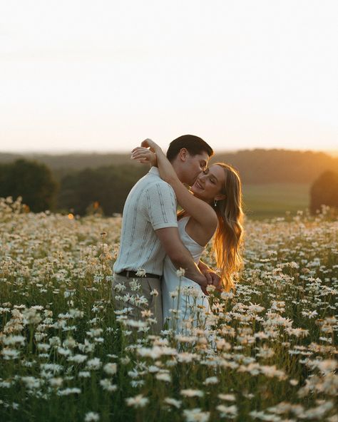
[[[185,269],[185,277],[192,279],[194,282],[200,284],[200,287],[205,292],[207,287],[207,279],[198,269],[197,264],[191,257],[188,249],[183,245],[178,234],[177,227],[165,227],[163,229],[155,230],[156,235],[160,239],[165,253],[170,257],[171,262],[177,269]]]

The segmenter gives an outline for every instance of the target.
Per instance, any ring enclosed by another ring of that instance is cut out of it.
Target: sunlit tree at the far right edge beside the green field
[[[314,180],[310,190],[310,212],[315,214],[322,205],[338,208],[338,173],[326,171]]]

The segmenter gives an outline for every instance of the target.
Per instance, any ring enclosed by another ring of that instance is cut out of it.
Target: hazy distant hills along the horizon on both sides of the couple
[[[0,153],[0,163],[28,158],[48,165],[58,179],[64,175],[103,166],[137,165],[128,154],[73,153],[63,155]],[[325,170],[338,169],[338,157],[325,153],[294,150],[240,150],[217,153],[212,162],[224,161],[240,171],[243,183],[312,183]]]

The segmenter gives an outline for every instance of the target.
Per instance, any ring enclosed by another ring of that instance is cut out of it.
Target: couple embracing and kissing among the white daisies
[[[210,145],[195,135],[173,140],[166,156],[150,139],[132,153],[152,167],[130,190],[123,209],[113,297],[132,319],[152,317],[155,334],[166,321],[173,326],[173,309],[175,329],[194,319],[189,296],[178,290],[193,289],[195,307],[208,312],[208,284],[230,289],[241,264],[240,177],[225,163],[208,167],[212,155]],[[220,275],[200,260],[212,238]],[[185,270],[181,277],[178,269]]]

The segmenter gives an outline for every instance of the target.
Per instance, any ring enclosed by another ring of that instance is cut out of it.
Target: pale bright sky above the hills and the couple
[[[0,151],[338,150],[337,0],[0,4]]]

